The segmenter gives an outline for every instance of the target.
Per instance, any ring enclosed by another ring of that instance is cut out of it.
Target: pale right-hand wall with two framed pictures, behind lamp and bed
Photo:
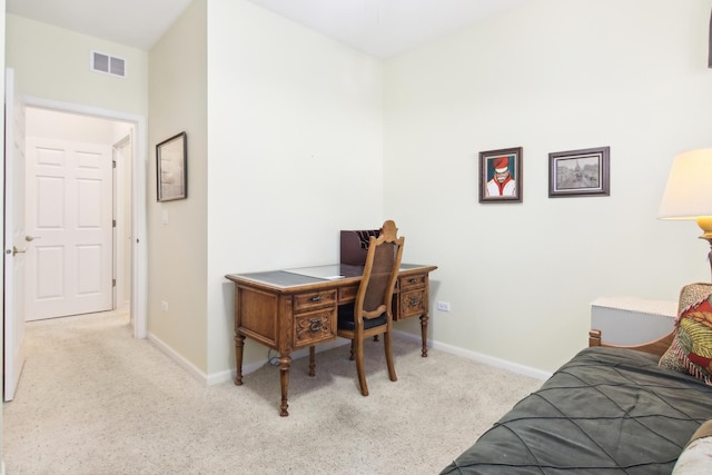
[[[673,156],[712,141],[710,0],[530,0],[386,63],[385,214],[435,264],[431,337],[553,370],[590,303],[709,280],[655,219]],[[478,152],[523,147],[522,204],[478,204]],[[548,198],[548,154],[611,147],[611,196]],[[399,326],[417,331],[417,321]]]

